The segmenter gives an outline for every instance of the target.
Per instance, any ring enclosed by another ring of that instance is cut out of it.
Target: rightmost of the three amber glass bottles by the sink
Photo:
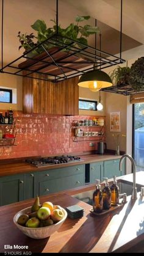
[[[111,190],[111,205],[118,205],[120,198],[120,189],[117,186],[116,176],[113,176],[113,184],[110,186]]]

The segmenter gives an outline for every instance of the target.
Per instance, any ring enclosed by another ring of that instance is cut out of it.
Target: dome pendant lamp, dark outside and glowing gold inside
[[[112,86],[112,80],[104,71],[94,69],[81,76],[78,86],[98,92],[98,90]]]

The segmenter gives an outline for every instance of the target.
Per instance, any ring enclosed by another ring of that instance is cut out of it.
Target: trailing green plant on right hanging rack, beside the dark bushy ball
[[[118,66],[112,72],[109,73],[113,84],[129,84],[129,73],[131,68]]]

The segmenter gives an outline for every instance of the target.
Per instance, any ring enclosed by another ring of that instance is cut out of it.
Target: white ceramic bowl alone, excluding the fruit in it
[[[49,225],[46,227],[37,227],[37,228],[24,227],[18,224],[17,221],[19,216],[24,213],[27,214],[30,211],[31,211],[31,207],[18,211],[18,213],[16,213],[15,216],[13,217],[13,222],[15,223],[16,227],[18,227],[18,229],[20,229],[25,235],[34,239],[43,239],[48,236],[51,236],[54,232],[56,232],[60,228],[60,226],[63,224],[63,222],[67,218],[67,211],[65,211],[65,209],[62,208],[64,217],[61,221],[57,222],[56,224]]]

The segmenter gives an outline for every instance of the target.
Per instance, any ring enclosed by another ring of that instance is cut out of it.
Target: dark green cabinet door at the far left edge
[[[24,174],[0,178],[0,205],[19,202],[24,199]]]

